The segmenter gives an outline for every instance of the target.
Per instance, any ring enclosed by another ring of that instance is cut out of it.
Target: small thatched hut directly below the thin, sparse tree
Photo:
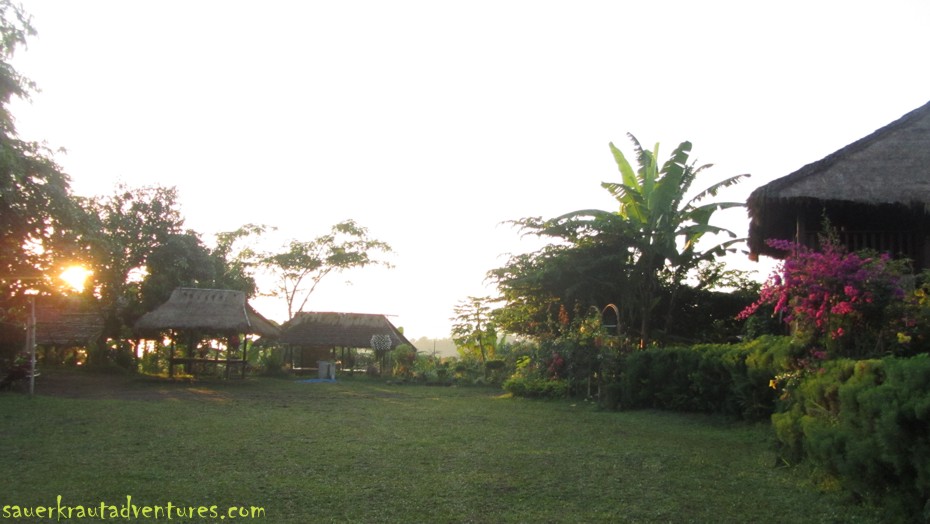
[[[392,348],[413,347],[385,315],[370,313],[300,312],[281,326],[279,342],[288,346],[285,359],[291,369],[301,372],[317,370],[319,362],[337,356],[345,363],[352,349],[371,348],[374,335],[389,336]]]

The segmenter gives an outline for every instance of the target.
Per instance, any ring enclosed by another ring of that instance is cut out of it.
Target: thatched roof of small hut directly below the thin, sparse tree
[[[301,347],[370,348],[372,335],[390,335],[391,347],[413,346],[384,315],[301,312],[281,326],[280,341]]]

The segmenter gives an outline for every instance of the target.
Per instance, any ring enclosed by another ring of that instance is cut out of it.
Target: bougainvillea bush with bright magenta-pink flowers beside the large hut
[[[801,347],[830,357],[869,357],[898,348],[905,262],[887,254],[846,252],[829,240],[819,251],[784,240],[768,244],[789,255],[741,318],[772,305]]]

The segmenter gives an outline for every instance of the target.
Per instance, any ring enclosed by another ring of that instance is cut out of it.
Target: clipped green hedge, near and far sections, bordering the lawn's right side
[[[774,336],[637,351],[606,403],[771,417],[783,461],[809,462],[889,520],[930,522],[930,355],[799,367],[804,357]],[[776,390],[778,375],[792,378]]]

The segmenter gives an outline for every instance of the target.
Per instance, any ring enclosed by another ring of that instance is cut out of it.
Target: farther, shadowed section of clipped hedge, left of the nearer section
[[[770,381],[791,362],[790,339],[776,336],[636,351],[626,357],[621,381],[608,389],[606,403],[765,419],[777,397]]]

